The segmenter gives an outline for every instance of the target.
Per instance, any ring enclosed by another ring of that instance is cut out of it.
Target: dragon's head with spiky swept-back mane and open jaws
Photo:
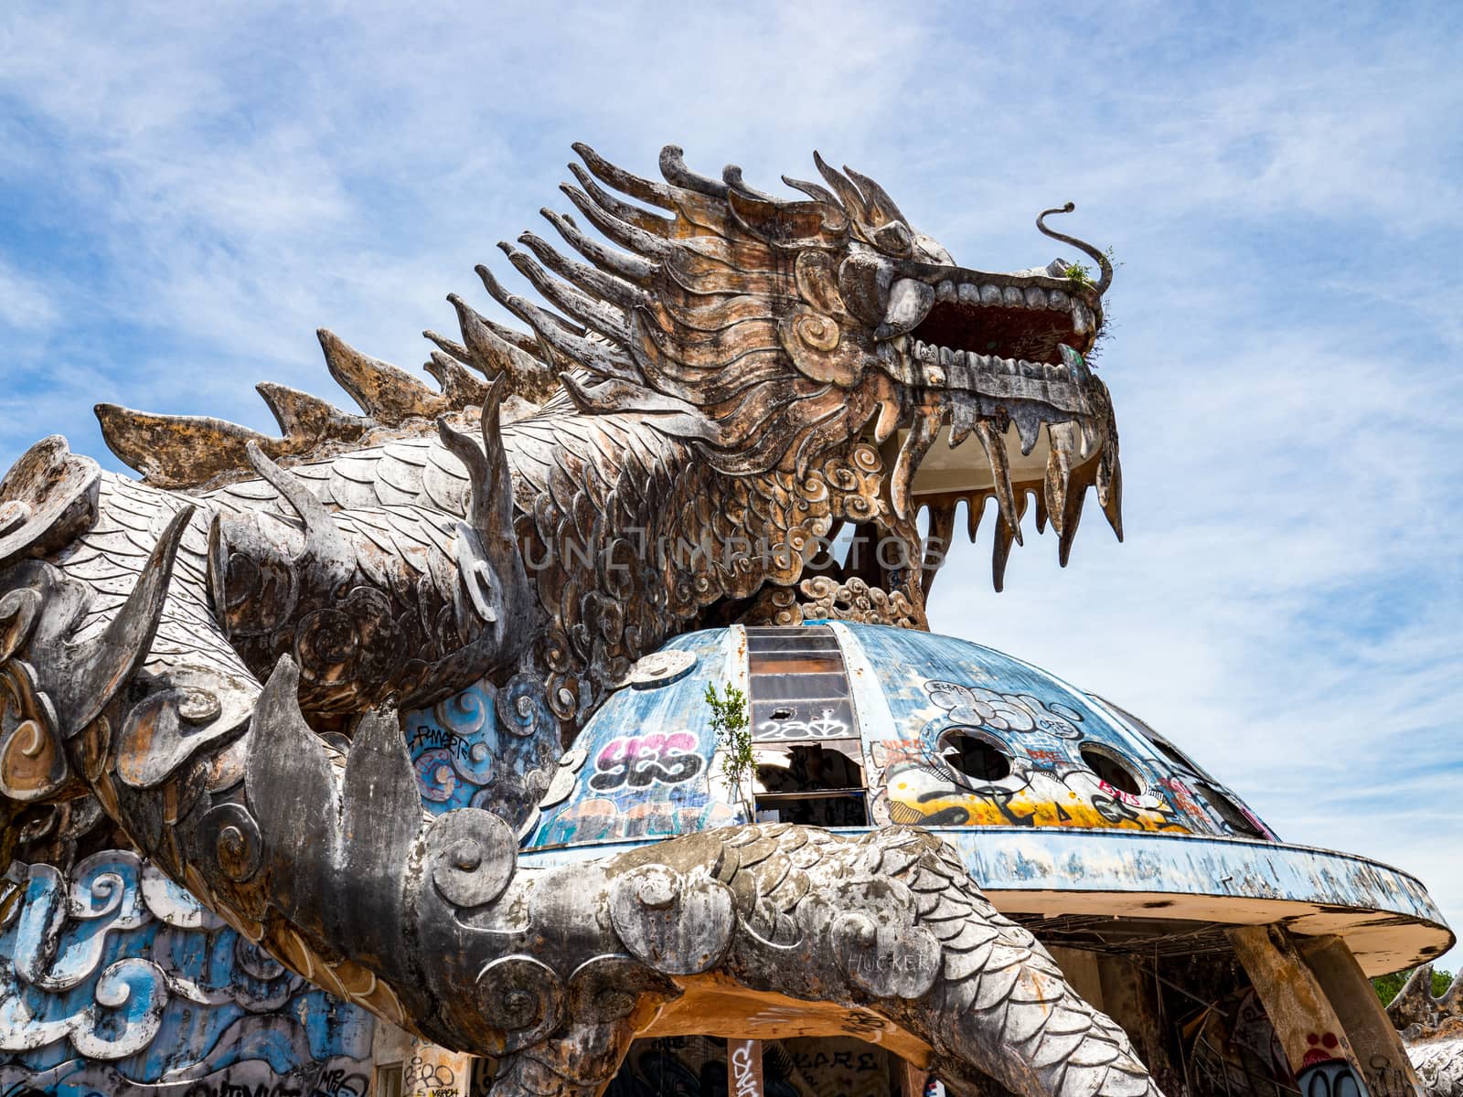
[[[827,186],[784,177],[806,197],[783,199],[736,167],[699,176],[676,146],[661,152],[664,181],[575,151],[584,165],[571,165],[578,186],[563,192],[619,249],[547,209],[588,263],[533,233],[519,237],[527,250],[502,244],[562,314],[480,275],[533,328],[534,357],[559,366],[581,411],[647,415],[737,475],[800,478],[840,448],[879,446],[890,528],[914,541],[920,508],[930,540],[948,543],[960,502],[973,538],[996,499],[998,589],[1030,494],[1064,565],[1087,487],[1122,535],[1112,405],[1084,357],[1112,266],[1046,227],[1071,205],[1037,227],[1090,255],[1097,281],[1061,259],[1008,274],[960,266],[878,183],[816,154]],[[928,588],[938,560],[925,559]]]

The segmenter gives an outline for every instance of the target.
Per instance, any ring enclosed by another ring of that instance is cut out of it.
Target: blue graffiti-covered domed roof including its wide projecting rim
[[[740,794],[708,687],[749,698],[755,780]],[[470,780],[474,756],[456,749],[470,740],[439,709],[414,730],[432,746],[414,756],[430,806],[449,809],[489,794],[473,788],[490,775]],[[480,709],[458,715],[477,727]],[[1368,973],[1453,942],[1416,879],[1280,842],[1200,762],[1102,698],[979,644],[843,622],[695,632],[641,660],[565,755],[521,860],[563,864],[739,822],[928,828],[999,910],[1058,938],[1135,933],[1192,951],[1222,945],[1225,926],[1285,920],[1343,936]]]

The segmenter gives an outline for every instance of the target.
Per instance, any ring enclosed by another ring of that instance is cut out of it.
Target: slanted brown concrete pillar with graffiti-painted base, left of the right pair
[[[1301,1097],[1380,1097],[1366,1088],[1365,1065],[1346,1027],[1285,926],[1238,926],[1229,939],[1274,1025]]]

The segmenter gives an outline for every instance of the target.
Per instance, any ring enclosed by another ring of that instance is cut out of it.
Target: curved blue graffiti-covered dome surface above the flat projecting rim
[[[1166,739],[1037,667],[928,632],[815,625],[696,632],[642,661],[573,744],[530,847],[746,822],[715,780],[708,686],[751,696],[764,821],[1274,837]]]

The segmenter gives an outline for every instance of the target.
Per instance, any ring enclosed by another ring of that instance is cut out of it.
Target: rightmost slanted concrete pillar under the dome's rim
[[[1346,1028],[1371,1097],[1426,1093],[1402,1037],[1346,942],[1334,936],[1296,938],[1296,945]]]

